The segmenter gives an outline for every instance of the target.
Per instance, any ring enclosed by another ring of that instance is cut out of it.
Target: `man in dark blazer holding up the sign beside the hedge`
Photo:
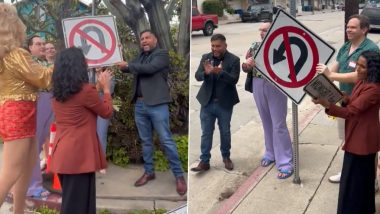
[[[141,54],[131,62],[121,62],[121,71],[134,75],[132,103],[135,103],[135,121],[142,140],[145,173],[136,181],[135,186],[145,185],[155,179],[153,165],[153,128],[165,148],[170,168],[176,177],[177,192],[187,191],[181,161],[173,141],[169,125],[170,97],[167,78],[169,73],[169,54],[157,47],[157,37],[150,30],[140,33]]]

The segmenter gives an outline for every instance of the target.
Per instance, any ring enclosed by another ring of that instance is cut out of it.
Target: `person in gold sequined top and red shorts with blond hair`
[[[0,3],[0,137],[4,141],[0,206],[13,186],[13,213],[24,213],[25,195],[37,160],[36,99],[50,85],[52,69],[32,60],[22,44],[25,25],[16,8]]]

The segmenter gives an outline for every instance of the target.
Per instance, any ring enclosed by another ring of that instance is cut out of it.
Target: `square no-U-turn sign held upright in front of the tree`
[[[86,16],[62,20],[66,47],[83,50],[89,67],[123,61],[113,16]]]

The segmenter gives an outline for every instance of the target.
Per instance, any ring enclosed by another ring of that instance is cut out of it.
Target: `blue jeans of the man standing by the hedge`
[[[147,174],[154,173],[152,138],[154,128],[160,138],[160,143],[164,146],[166,158],[174,176],[176,178],[183,176],[177,146],[170,132],[168,104],[149,106],[138,99],[135,104],[135,121],[142,141],[145,172]]]

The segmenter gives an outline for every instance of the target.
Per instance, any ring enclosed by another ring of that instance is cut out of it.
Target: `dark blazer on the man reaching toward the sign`
[[[142,63],[143,54],[141,53],[139,57],[129,62],[126,69],[122,69],[122,72],[134,75],[131,102],[134,103],[137,99],[137,78],[140,79],[145,104],[158,105],[171,102],[167,83],[170,64],[168,51],[155,48]]]

